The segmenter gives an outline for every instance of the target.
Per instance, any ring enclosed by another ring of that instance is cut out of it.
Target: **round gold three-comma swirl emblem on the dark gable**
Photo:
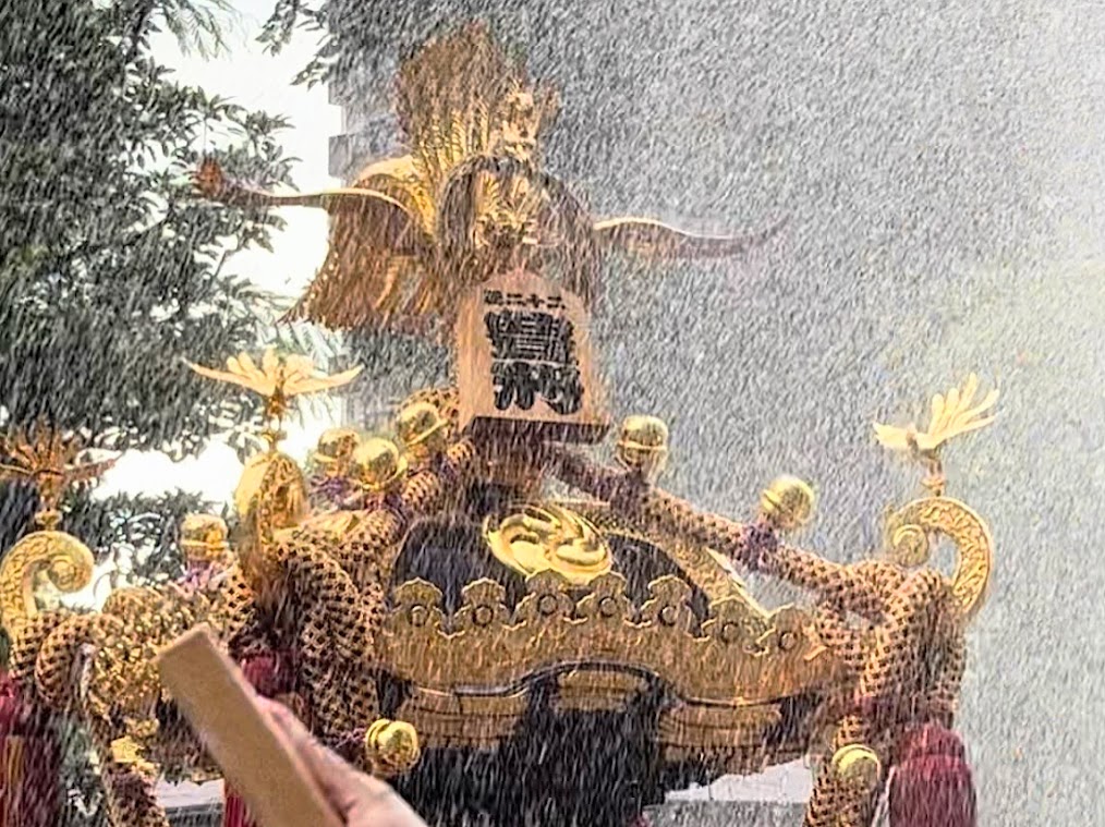
[[[554,571],[572,585],[583,586],[613,565],[599,530],[562,506],[523,506],[497,526],[488,517],[483,532],[495,558],[526,576]]]

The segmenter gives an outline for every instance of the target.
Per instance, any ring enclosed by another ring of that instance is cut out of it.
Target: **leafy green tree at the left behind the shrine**
[[[176,82],[164,30],[221,47],[218,12],[191,0],[10,0],[0,8],[0,425],[44,418],[110,449],[179,458],[214,434],[243,444],[254,401],[193,377],[264,336],[272,298],[233,273],[275,216],[193,197],[202,152],[274,184],[280,117]],[[180,497],[71,502],[67,526],[106,549],[120,527],[177,565]],[[33,511],[0,490],[0,549]],[[127,517],[144,515],[137,521]]]

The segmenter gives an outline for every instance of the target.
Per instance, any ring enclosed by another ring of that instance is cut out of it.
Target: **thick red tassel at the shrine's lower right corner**
[[[975,785],[959,736],[940,724],[906,732],[890,783],[891,827],[977,827]]]

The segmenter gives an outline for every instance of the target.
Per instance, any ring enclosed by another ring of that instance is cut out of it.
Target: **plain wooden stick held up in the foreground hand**
[[[260,827],[343,827],[256,693],[203,626],[161,650],[161,681]]]

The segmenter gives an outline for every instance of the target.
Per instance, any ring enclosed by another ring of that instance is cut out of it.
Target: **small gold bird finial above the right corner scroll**
[[[906,427],[875,423],[875,438],[880,443],[891,450],[908,453],[925,465],[928,474],[923,485],[936,497],[944,496],[947,483],[940,449],[951,438],[983,428],[994,420],[994,414],[989,412],[998,402],[998,390],[990,391],[975,404],[977,392],[978,375],[971,373],[962,388],[953,388],[947,395],[934,395],[929,403],[928,428],[923,432],[912,423]]]

